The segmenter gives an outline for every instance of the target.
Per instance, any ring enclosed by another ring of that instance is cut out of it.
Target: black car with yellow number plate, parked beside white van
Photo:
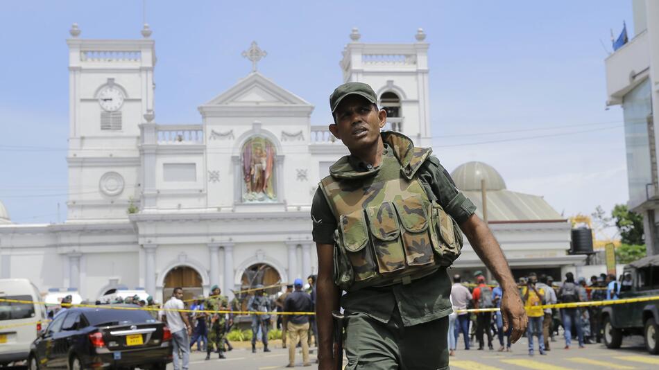
[[[135,305],[113,305],[117,308]],[[70,308],[59,312],[30,349],[30,370],[164,370],[171,332],[144,310]]]

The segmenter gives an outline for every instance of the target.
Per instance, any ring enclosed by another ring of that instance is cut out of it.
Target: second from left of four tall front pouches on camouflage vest
[[[400,226],[393,204],[382,202],[366,207],[370,235],[373,236],[373,252],[380,274],[405,268],[405,253],[400,242]]]

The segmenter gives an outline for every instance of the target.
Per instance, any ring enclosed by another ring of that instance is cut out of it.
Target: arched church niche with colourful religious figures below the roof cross
[[[243,202],[276,202],[275,146],[264,137],[247,141],[241,152]]]

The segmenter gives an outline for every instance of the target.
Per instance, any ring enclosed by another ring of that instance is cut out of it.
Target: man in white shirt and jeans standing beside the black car
[[[169,331],[171,331],[174,370],[187,370],[190,358],[189,335],[192,333],[192,326],[185,312],[176,311],[185,308],[182,298],[183,289],[174,288],[171,298],[163,307],[164,321],[169,326]],[[179,351],[181,358],[179,358]],[[182,360],[182,364],[180,364],[180,360]]]

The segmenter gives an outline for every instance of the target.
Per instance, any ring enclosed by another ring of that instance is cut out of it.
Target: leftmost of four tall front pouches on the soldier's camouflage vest
[[[350,260],[354,282],[366,281],[376,276],[377,265],[373,249],[368,247],[368,231],[363,209],[341,215],[341,243]]]

